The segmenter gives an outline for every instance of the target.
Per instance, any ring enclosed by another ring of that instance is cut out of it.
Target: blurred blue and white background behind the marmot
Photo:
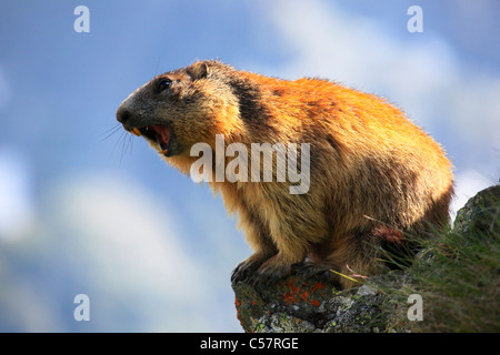
[[[413,4],[423,33],[407,30]],[[130,92],[197,59],[388,98],[446,148],[463,205],[500,175],[499,14],[494,0],[2,1],[0,331],[241,332],[236,220],[113,131]],[[80,293],[90,322],[73,318]]]

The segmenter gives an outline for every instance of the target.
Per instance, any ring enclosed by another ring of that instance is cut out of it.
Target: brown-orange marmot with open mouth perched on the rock
[[[218,134],[226,148],[238,142],[249,154],[252,143],[309,144],[307,193],[290,193],[291,182],[277,179],[209,182],[254,250],[233,282],[266,284],[306,262],[337,271],[331,276],[351,287],[338,273],[373,274],[383,247],[404,246],[413,233],[448,221],[452,166],[441,146],[386,100],[329,80],[197,61],[137,89],[117,119],[186,174],[199,159],[191,146],[214,151]]]

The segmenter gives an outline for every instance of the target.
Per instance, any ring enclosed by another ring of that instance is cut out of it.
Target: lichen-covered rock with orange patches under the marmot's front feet
[[[382,332],[386,296],[370,284],[338,291],[298,274],[260,288],[232,284],[238,320],[247,333]]]

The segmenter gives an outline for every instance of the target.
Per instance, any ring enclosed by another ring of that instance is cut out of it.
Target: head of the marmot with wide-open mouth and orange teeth
[[[189,155],[198,142],[214,148],[216,134],[232,134],[241,125],[228,80],[232,71],[219,61],[200,61],[160,74],[120,104],[117,120],[168,158]]]

